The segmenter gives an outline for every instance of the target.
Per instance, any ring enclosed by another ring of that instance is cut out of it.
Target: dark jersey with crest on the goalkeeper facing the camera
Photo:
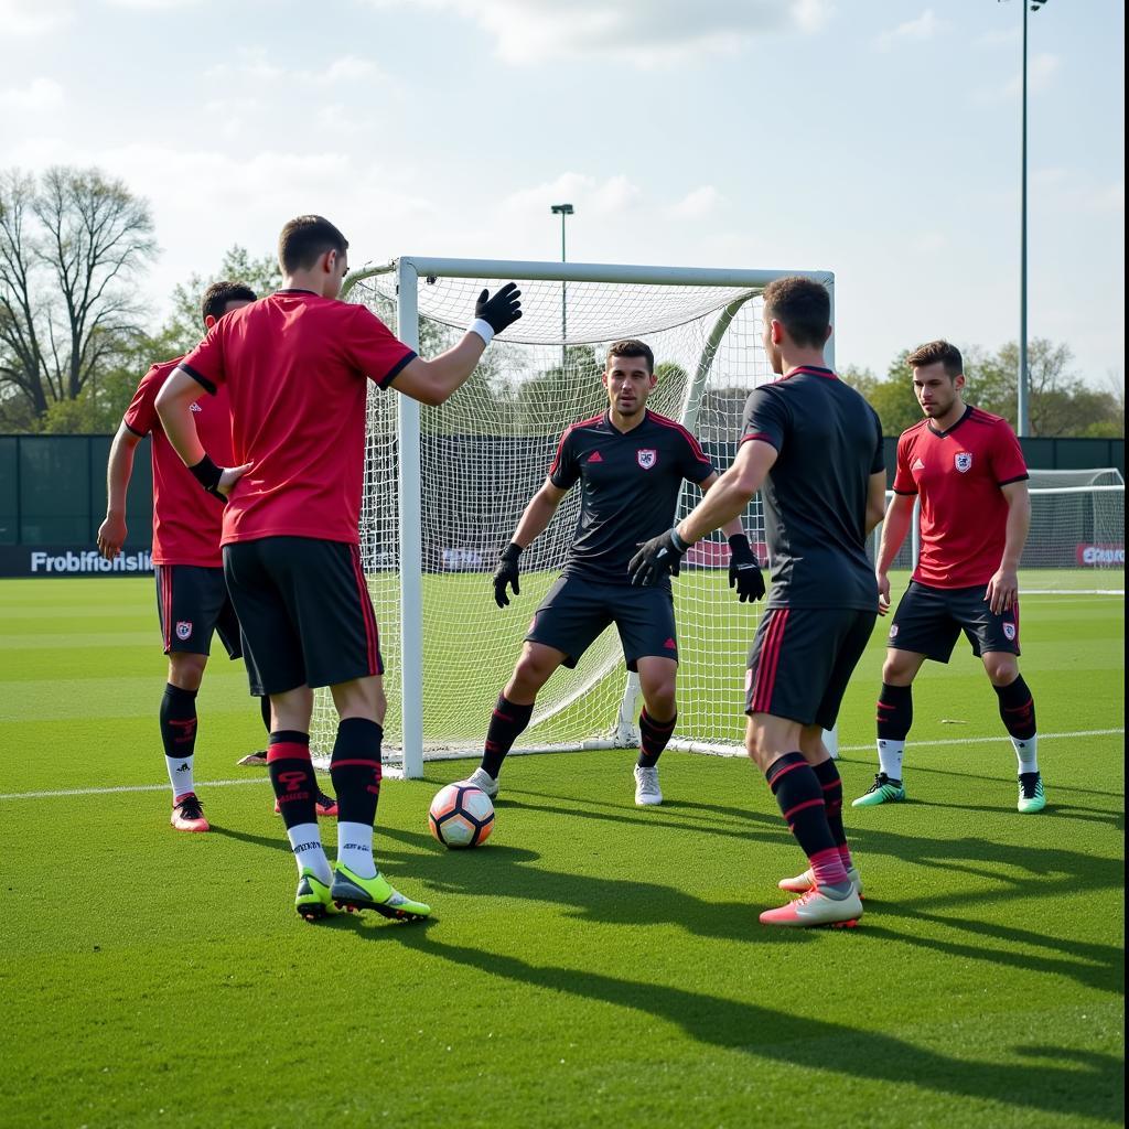
[[[630,584],[628,562],[644,541],[671,527],[683,479],[714,473],[698,440],[681,425],[647,411],[630,431],[609,413],[574,423],[561,436],[549,480],[567,490],[580,481],[580,520],[566,576]]]

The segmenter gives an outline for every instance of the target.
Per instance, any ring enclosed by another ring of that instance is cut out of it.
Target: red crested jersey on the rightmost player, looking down
[[[894,493],[921,498],[921,555],[913,579],[934,588],[987,584],[1007,528],[1000,487],[1027,478],[1007,420],[971,405],[947,430],[922,420],[898,440]]]

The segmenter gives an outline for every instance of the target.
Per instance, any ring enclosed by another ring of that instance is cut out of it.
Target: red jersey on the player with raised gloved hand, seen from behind
[[[364,306],[309,290],[280,290],[221,317],[181,367],[209,392],[227,386],[228,465],[253,464],[224,511],[222,543],[357,544],[366,377],[386,388],[414,356]]]

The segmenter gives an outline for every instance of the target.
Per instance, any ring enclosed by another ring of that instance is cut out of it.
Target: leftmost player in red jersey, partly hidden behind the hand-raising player
[[[226,313],[255,300],[239,282],[213,282],[202,300],[204,327]],[[125,495],[133,474],[137,445],[152,436],[152,560],[157,574],[157,612],[168,655],[168,683],[160,701],[160,739],[173,786],[172,824],[177,831],[208,831],[193,780],[196,743],[196,693],[203,679],[212,632],[231,658],[242,654],[239,622],[224,583],[219,536],[222,499],[200,490],[165,437],[154,403],[181,358],[161,361],[142,377],[110,448],[106,467],[106,519],[98,527],[98,551],[113,560],[125,542]],[[200,396],[192,418],[202,441],[231,462],[231,415],[227,395]],[[271,703],[262,699],[270,733]],[[333,799],[318,793],[318,809],[335,815]]]

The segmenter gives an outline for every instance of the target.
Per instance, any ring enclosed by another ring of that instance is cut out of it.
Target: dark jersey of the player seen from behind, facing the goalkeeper
[[[751,439],[778,452],[761,488],[768,606],[874,611],[866,499],[885,467],[877,413],[831,369],[804,366],[750,394],[741,441]]]

